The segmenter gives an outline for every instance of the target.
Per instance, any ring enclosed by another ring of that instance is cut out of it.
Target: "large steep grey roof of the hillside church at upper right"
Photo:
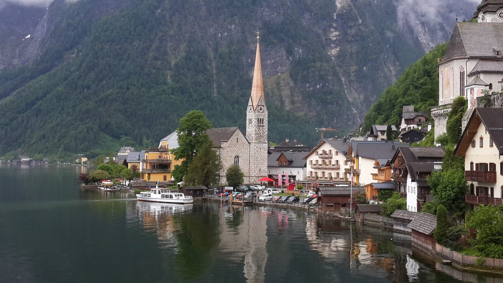
[[[456,23],[440,63],[456,58],[496,57],[496,50],[503,50],[503,25]]]

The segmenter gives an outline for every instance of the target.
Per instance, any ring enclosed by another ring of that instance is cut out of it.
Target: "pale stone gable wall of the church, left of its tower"
[[[244,174],[244,182],[247,183],[250,175],[249,148],[249,143],[240,130],[235,131],[228,142],[221,143],[221,148],[217,152],[220,155],[220,162],[222,163],[222,169],[220,173],[221,184],[227,183],[225,173],[230,166],[234,165],[235,157],[239,158],[239,168]]]

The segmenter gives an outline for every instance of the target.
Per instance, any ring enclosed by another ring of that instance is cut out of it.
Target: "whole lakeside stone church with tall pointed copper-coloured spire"
[[[206,131],[222,163],[220,184],[226,183],[225,172],[232,165],[239,166],[246,184],[259,183],[259,179],[267,176],[268,111],[264,97],[259,40],[260,37],[257,36],[253,83],[246,107],[246,135],[238,127],[213,128]]]

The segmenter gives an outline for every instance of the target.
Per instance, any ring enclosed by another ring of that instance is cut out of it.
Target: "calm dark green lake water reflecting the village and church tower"
[[[81,190],[87,166],[0,165],[0,282],[469,282],[406,235],[270,207]],[[440,270],[442,269],[442,271]]]

